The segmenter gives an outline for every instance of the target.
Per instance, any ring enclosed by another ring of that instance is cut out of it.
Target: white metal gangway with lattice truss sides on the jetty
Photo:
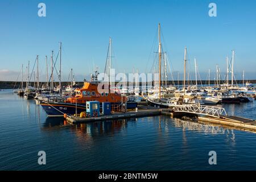
[[[209,115],[215,118],[220,118],[221,116],[227,115],[223,107],[200,105],[200,104],[175,105],[174,111],[181,112],[181,113]]]

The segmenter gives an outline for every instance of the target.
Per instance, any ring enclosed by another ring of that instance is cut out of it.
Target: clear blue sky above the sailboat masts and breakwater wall
[[[38,16],[38,3],[46,3],[46,17]],[[208,15],[209,3],[217,17]],[[152,64],[152,44],[161,23],[165,47],[174,71],[183,72],[187,46],[191,72],[196,57],[201,72],[216,64],[226,68],[225,57],[236,51],[236,77],[256,78],[256,1],[1,1],[0,80],[15,80],[21,64],[44,56],[63,43],[63,72],[73,68],[80,80],[95,66],[104,71],[109,36],[113,39],[114,67],[145,72]],[[156,50],[154,50],[156,51]],[[24,66],[25,67],[25,66]],[[212,73],[213,75],[213,73]],[[223,76],[222,76],[223,77]],[[212,76],[213,78],[213,76]]]

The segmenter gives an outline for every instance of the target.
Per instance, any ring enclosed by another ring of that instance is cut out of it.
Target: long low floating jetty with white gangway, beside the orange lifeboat
[[[256,131],[256,121],[238,116],[227,115],[225,110],[214,106],[195,106],[174,107],[173,109],[160,109],[157,107],[139,105],[138,110],[127,111],[127,113],[114,113],[110,115],[100,115],[99,117],[81,118],[68,116],[67,122],[75,124],[80,122],[107,121],[113,119],[149,117],[153,115],[168,115],[171,118],[183,116],[196,116],[201,123],[212,123],[220,126],[234,127],[240,130]],[[218,113],[216,113],[218,112]],[[212,115],[211,115],[212,113]]]

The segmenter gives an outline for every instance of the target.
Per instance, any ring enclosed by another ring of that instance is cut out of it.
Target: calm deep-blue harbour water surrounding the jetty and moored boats
[[[256,119],[255,101],[224,105]],[[0,91],[1,170],[256,169],[256,134],[166,116],[67,125],[34,100]],[[39,166],[38,151],[47,164]],[[208,152],[217,152],[217,165]]]

